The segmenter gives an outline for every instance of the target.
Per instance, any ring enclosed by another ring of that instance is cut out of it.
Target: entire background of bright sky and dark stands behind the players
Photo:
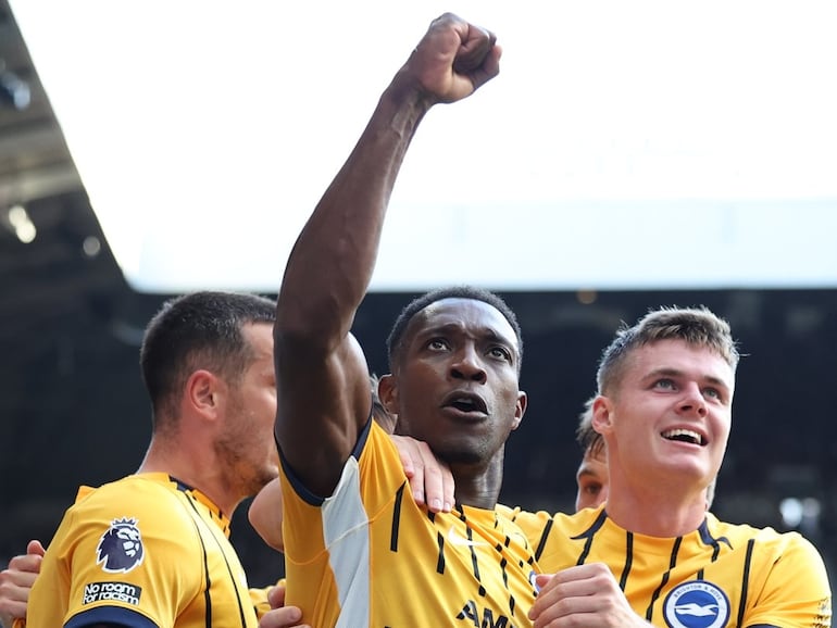
[[[530,403],[501,497],[567,508],[601,349],[648,307],[707,304],[747,353],[715,512],[837,564],[832,0],[0,0],[0,567],[77,485],[136,468],[149,317],[192,289],[275,293],[448,10],[497,33],[502,72],[411,148],[355,319],[371,368],[416,291],[502,291]],[[280,560],[248,526],[266,585]]]

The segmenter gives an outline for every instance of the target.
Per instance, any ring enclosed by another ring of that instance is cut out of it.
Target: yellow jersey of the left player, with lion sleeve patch
[[[47,549],[26,626],[255,628],[228,536],[205,495],[165,474],[83,487]]]

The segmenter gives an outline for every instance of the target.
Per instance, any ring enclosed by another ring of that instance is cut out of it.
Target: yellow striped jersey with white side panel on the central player
[[[434,515],[413,501],[390,438],[374,422],[327,499],[282,465],[286,603],[317,628],[520,628],[537,565],[495,510]]]

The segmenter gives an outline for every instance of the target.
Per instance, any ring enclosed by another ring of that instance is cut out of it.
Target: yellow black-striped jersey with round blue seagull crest
[[[825,565],[797,532],[708,514],[689,535],[657,538],[621,528],[603,506],[575,515],[507,514],[529,537],[545,572],[605,563],[634,611],[654,626],[830,626]]]

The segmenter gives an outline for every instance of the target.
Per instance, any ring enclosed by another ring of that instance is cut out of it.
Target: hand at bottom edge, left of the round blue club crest
[[[529,611],[533,628],[651,626],[634,613],[603,563],[570,567],[553,576],[540,575],[537,583],[540,592]]]

